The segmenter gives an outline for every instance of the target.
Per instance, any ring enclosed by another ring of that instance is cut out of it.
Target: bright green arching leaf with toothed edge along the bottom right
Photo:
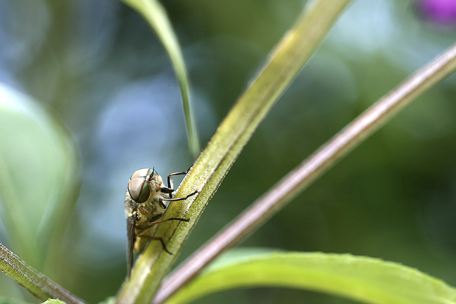
[[[185,303],[227,289],[267,286],[320,291],[366,303],[456,303],[456,289],[399,263],[350,254],[246,254],[242,250],[223,255],[166,303]]]

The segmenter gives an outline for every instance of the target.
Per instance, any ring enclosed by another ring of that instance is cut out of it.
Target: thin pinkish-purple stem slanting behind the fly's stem
[[[423,94],[456,69],[456,44],[418,70],[395,90],[379,99],[313,155],[282,178],[225,229],[187,258],[163,281],[155,304],[164,302],[196,276],[208,263],[233,247],[268,220],[298,193],[348,154],[364,138],[381,127],[410,101]]]

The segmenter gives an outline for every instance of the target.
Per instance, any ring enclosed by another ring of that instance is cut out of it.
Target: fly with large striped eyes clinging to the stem
[[[197,191],[183,198],[173,198],[174,189],[171,175],[187,174],[188,171],[175,172],[168,175],[168,187],[163,185],[163,179],[154,169],[137,170],[130,177],[127,193],[125,194],[125,214],[127,216],[127,276],[130,277],[133,267],[133,253],[140,253],[150,240],[158,240],[163,249],[165,242],[160,237],[154,237],[156,227],[153,225],[169,220],[190,221],[186,218],[171,217],[161,219],[166,210],[163,201],[183,201],[195,195]]]

